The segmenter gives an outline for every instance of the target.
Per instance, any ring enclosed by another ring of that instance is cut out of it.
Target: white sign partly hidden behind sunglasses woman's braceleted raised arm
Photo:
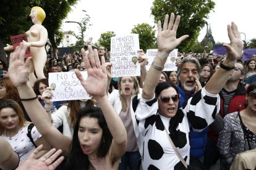
[[[146,65],[147,70],[149,70],[151,64],[153,63],[153,60],[156,57],[157,51],[158,49],[147,49],[147,56],[148,56],[148,65]],[[177,67],[176,67],[177,52],[178,52],[178,49],[174,49],[173,51],[170,52],[164,64],[163,71],[177,71]]]

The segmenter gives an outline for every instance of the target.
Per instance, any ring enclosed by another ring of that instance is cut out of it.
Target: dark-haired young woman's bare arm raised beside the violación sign
[[[96,49],[93,51],[92,46],[89,45],[88,51],[89,54],[87,56],[83,55],[83,61],[87,68],[87,79],[83,79],[79,70],[75,70],[75,74],[88,94],[96,99],[98,106],[105,116],[109,131],[113,136],[113,141],[109,149],[109,156],[113,159],[121,158],[126,151],[126,128],[106,95],[108,78],[106,75],[105,59],[104,57],[101,57],[101,65]],[[84,54],[84,49],[82,49],[82,54]]]

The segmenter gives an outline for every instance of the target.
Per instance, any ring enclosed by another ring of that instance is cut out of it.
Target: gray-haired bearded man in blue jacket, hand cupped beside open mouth
[[[181,64],[177,70],[177,78],[179,86],[177,87],[181,99],[179,100],[179,107],[187,103],[190,97],[202,89],[198,81],[201,73],[201,66],[197,59],[192,57],[185,57],[181,60]],[[202,132],[194,132],[190,129],[190,155],[195,156],[198,160],[203,161],[203,153],[207,141],[207,128]]]

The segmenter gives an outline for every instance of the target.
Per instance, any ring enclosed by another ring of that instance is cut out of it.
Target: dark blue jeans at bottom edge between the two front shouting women
[[[126,170],[129,166],[132,170],[139,170],[138,161],[140,159],[140,152],[126,152],[122,155],[121,163],[119,163],[118,170]]]

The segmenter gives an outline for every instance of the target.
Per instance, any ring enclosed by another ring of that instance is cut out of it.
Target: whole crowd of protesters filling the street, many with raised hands
[[[235,156],[256,148],[256,55],[241,62],[243,44],[228,25],[228,54],[179,52],[177,71],[163,71],[180,17],[158,22],[158,52],[141,76],[111,77],[106,48],[47,59],[28,81],[32,57],[21,43],[9,69],[0,61],[1,169],[230,169]],[[168,22],[169,21],[169,22]],[[87,51],[85,51],[87,50]],[[4,73],[4,71],[6,71]],[[48,73],[75,71],[92,99],[51,102]],[[83,79],[80,71],[87,71]],[[42,76],[41,76],[42,77]]]

